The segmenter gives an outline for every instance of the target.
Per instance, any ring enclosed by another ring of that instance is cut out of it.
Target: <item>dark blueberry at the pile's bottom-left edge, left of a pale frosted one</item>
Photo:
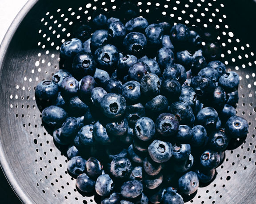
[[[93,192],[95,181],[88,177],[86,173],[82,173],[76,178],[76,186],[82,192]]]

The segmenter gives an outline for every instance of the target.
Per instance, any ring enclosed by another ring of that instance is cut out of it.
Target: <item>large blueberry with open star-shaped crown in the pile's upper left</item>
[[[95,60],[100,68],[105,69],[108,72],[112,72],[116,69],[116,65],[119,60],[119,51],[113,45],[101,45],[95,51]]]

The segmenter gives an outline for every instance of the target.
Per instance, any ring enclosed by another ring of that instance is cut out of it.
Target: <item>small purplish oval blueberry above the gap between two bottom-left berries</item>
[[[85,166],[88,176],[93,179],[96,179],[102,174],[103,166],[101,165],[100,161],[94,157],[88,158]]]

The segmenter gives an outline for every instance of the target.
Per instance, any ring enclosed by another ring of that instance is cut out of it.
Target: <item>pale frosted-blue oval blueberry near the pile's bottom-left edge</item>
[[[95,191],[100,196],[108,196],[114,188],[113,181],[108,174],[100,175],[95,183]]]

